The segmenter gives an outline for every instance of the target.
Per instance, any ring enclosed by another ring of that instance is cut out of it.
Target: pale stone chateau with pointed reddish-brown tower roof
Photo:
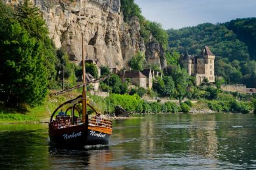
[[[188,55],[188,52],[180,56],[182,66],[187,69],[188,74],[196,77],[197,86],[199,86],[205,78],[207,78],[210,83],[215,82],[214,60],[215,55],[207,46],[205,46],[202,52],[197,56]]]

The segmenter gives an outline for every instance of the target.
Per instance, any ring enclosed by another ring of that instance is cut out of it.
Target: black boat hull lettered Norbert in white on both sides
[[[104,130],[104,129],[103,129]],[[102,131],[102,128],[77,125],[49,131],[52,143],[66,146],[86,146],[86,145],[107,145],[110,142],[111,134]]]

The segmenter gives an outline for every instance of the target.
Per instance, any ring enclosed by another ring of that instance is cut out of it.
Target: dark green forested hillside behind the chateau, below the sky
[[[224,24],[199,24],[167,30],[169,50],[198,55],[207,45],[215,54],[215,73],[227,84],[243,83],[256,87],[256,19],[236,19]]]

